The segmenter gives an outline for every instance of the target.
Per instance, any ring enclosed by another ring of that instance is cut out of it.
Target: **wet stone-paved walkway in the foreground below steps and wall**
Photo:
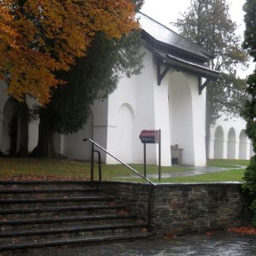
[[[1,255],[1,253],[0,253]],[[44,248],[16,253],[20,256],[253,256],[256,236],[225,232],[212,236],[179,236],[172,239],[119,242],[80,247]]]

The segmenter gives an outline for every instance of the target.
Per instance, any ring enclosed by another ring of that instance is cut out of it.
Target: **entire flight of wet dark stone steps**
[[[0,254],[148,237],[126,210],[89,182],[0,182]]]

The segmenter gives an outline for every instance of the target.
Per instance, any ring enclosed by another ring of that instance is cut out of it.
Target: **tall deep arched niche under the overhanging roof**
[[[183,148],[183,164],[194,165],[192,96],[189,80],[182,72],[172,73],[168,97],[170,143],[178,144],[179,148]]]

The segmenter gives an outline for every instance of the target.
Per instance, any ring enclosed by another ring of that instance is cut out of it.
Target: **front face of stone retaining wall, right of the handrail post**
[[[154,234],[184,235],[246,224],[248,205],[241,183],[158,185],[152,207]]]

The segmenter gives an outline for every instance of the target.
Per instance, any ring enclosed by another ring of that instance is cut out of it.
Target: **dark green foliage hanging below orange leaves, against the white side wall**
[[[88,54],[68,72],[58,73],[67,81],[52,90],[51,102],[40,108],[40,117],[49,119],[53,131],[72,133],[83,127],[96,99],[107,97],[116,88],[122,74],[131,76],[142,68],[139,55],[142,41],[138,32],[121,40],[108,40],[99,32]]]

